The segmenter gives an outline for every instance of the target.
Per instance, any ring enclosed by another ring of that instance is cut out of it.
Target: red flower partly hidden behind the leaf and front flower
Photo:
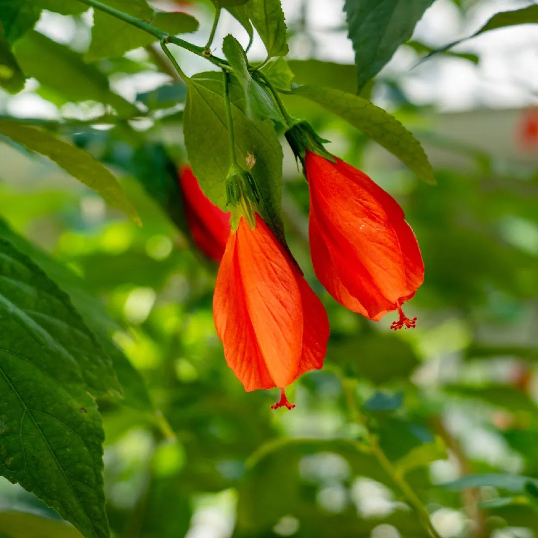
[[[179,180],[194,243],[208,258],[218,263],[230,235],[230,215],[215,206],[202,192],[190,167],[181,168]]]

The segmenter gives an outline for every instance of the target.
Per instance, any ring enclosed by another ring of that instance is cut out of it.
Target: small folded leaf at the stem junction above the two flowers
[[[245,51],[239,41],[229,34],[224,38],[222,50],[233,68],[233,75],[245,91],[247,116],[252,119],[270,118],[284,122],[284,117],[266,88],[251,76]]]

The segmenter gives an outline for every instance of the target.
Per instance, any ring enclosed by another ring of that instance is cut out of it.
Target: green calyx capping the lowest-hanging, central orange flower
[[[232,232],[237,231],[241,217],[250,226],[256,228],[256,208],[260,200],[258,188],[250,172],[232,164],[226,175],[226,207],[231,211],[230,225]]]

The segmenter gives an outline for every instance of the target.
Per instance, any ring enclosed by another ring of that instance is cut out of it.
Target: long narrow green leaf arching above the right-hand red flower
[[[435,183],[433,169],[420,142],[382,108],[357,95],[322,86],[299,86],[293,93],[341,116],[398,157],[419,178]]]

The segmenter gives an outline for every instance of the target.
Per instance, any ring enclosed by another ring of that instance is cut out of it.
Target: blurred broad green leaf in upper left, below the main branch
[[[81,54],[65,45],[32,31],[17,41],[13,51],[26,76],[33,76],[68,101],[110,104],[125,116],[138,112],[134,105],[110,91],[105,75],[84,63]]]

